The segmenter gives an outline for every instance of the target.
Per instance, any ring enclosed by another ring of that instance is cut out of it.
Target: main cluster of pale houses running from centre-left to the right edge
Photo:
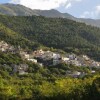
[[[43,51],[42,49],[36,50],[30,54],[21,51],[20,55],[22,58],[28,61],[32,61],[33,63],[39,63],[44,66],[55,66],[60,63],[66,63],[68,65],[100,68],[100,62],[91,60],[87,55],[81,55],[81,56],[77,56],[75,54],[62,55],[51,51]]]

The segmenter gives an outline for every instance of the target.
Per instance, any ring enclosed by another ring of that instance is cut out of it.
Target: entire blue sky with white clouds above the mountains
[[[31,9],[57,9],[78,18],[100,19],[100,0],[0,0],[0,3],[21,4]]]

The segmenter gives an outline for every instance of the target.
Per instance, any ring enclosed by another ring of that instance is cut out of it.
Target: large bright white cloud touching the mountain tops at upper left
[[[11,0],[10,3],[21,4],[31,9],[50,10],[64,6],[66,9],[74,2],[82,0]]]

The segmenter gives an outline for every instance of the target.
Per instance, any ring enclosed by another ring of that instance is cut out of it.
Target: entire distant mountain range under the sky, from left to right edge
[[[0,4],[0,14],[9,16],[45,16],[49,18],[67,18],[87,25],[100,27],[100,20],[75,18],[68,13],[61,13],[57,10],[32,10],[19,4]]]

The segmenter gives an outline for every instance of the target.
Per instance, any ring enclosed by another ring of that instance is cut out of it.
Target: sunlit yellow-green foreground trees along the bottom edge
[[[0,71],[0,100],[99,100],[100,75],[84,79],[9,76]]]

